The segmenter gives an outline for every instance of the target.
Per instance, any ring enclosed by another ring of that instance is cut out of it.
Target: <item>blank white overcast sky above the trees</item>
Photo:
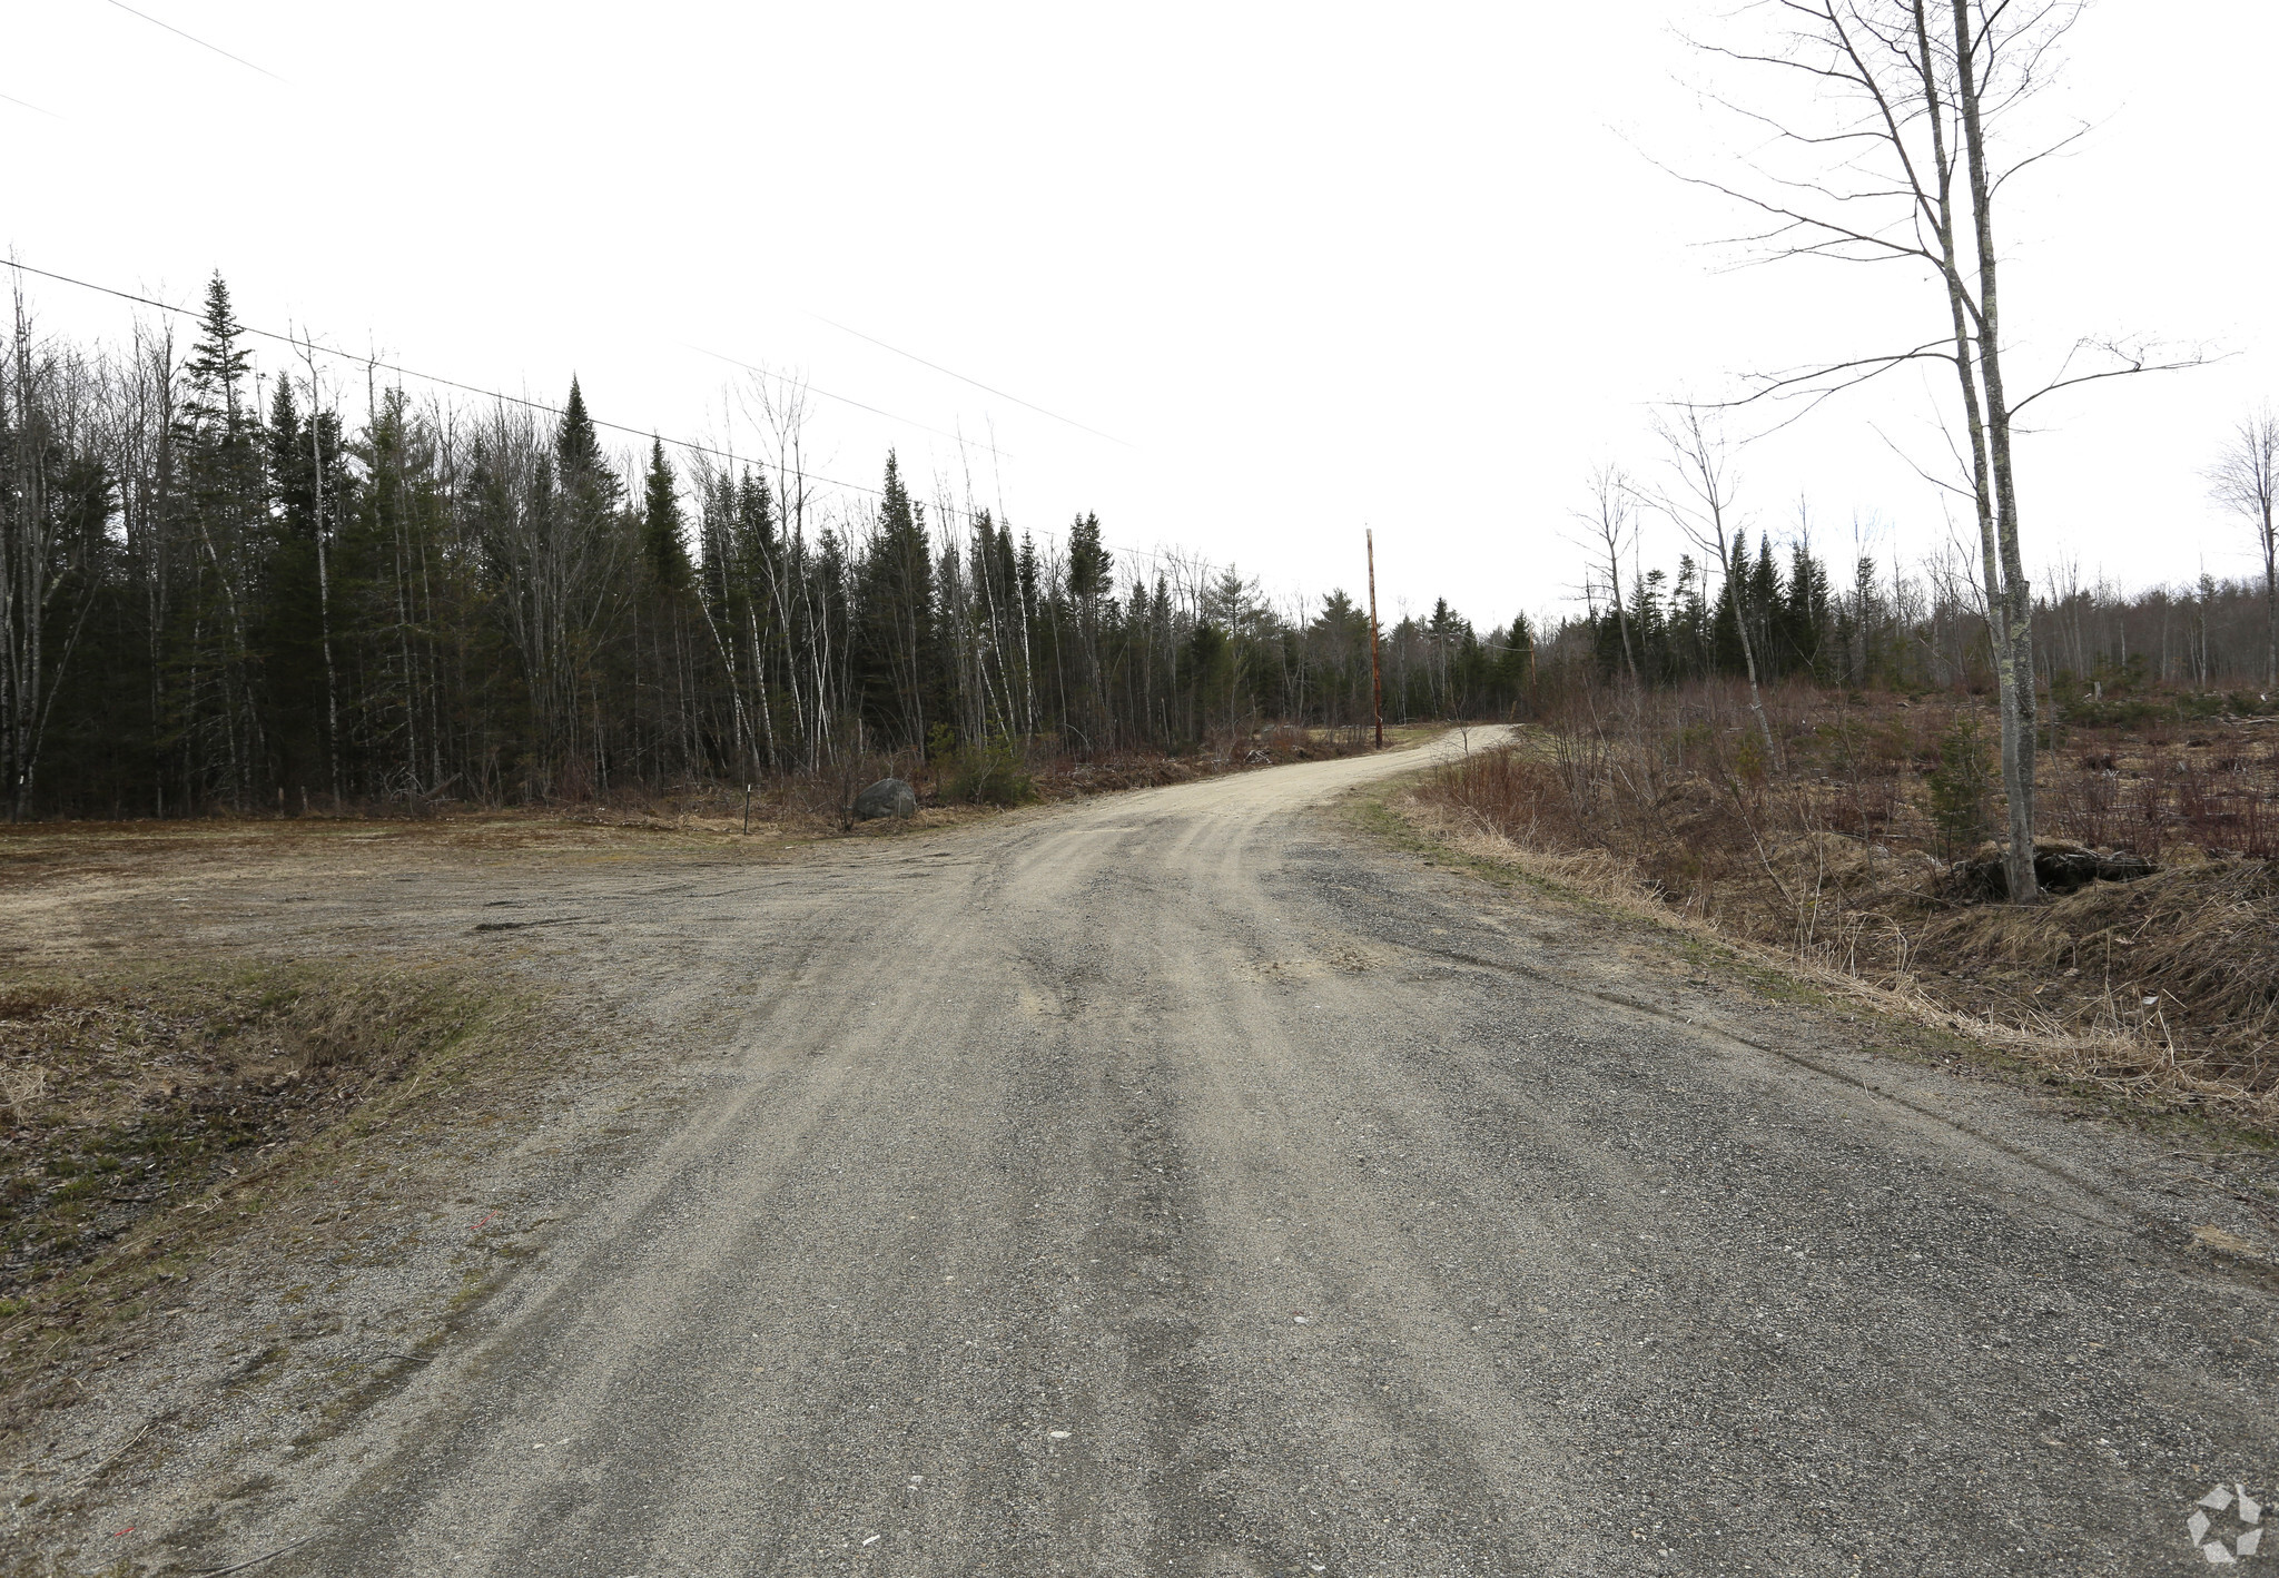
[[[1276,593],[1358,591],[1372,524],[1388,604],[1493,625],[1573,593],[1568,511],[1600,461],[1652,472],[1657,399],[1923,322],[1898,274],[1730,269],[1707,244],[1743,217],[1655,166],[1743,151],[1673,34],[1723,9],[137,0],[246,66],[114,0],[0,0],[0,246],[185,303],[219,267],[248,324],[542,399],[577,372],[668,438],[748,447],[720,358],[793,369],[896,413],[818,399],[825,474],[875,483],[893,445],[925,490],[1098,511]],[[2279,397],[2272,59],[2249,0],[2106,0],[2072,36],[2042,112],[2094,130],[2006,198],[2015,356],[2224,356],[2044,401],[2033,561],[2249,568],[2199,472]],[[1810,499],[1839,561],[1855,518],[1933,552],[1910,458],[1946,399],[1910,372],[1821,408],[1748,449],[1743,502],[1787,534]]]

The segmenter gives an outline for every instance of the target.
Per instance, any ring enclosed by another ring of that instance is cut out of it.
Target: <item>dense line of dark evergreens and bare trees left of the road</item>
[[[36,333],[0,365],[0,768],[23,816],[577,800],[868,755],[1226,748],[1370,718],[1370,616],[1016,531],[893,454],[611,456],[572,381],[362,415],[315,353],[262,369],[228,285],[191,344]],[[1383,632],[1392,721],[1509,711],[1525,620]]]

